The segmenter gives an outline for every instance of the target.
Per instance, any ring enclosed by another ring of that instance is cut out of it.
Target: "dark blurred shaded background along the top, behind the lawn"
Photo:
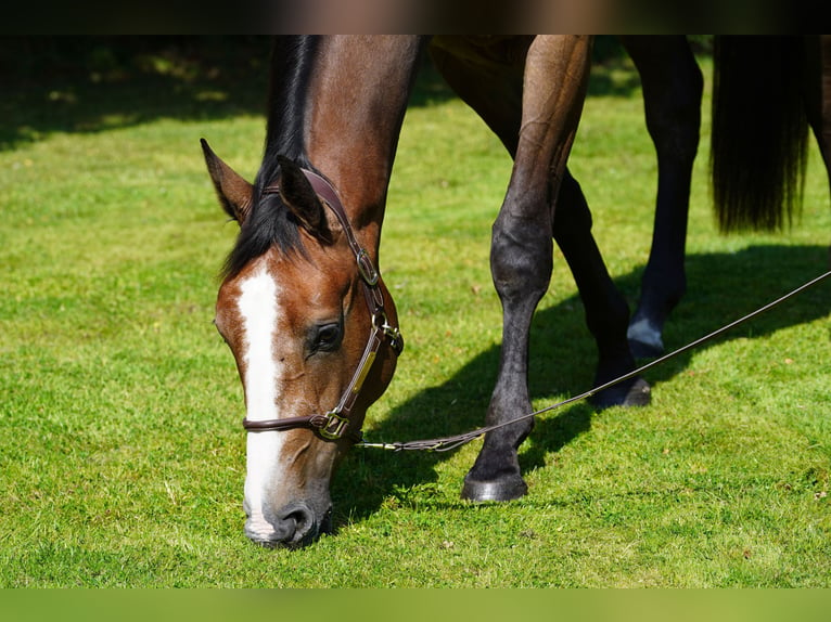
[[[691,41],[708,53],[708,36]],[[0,148],[161,117],[265,116],[270,51],[269,36],[0,37]],[[599,36],[593,55],[590,94],[639,86],[615,37]],[[603,74],[615,68],[624,80]],[[452,96],[425,57],[411,105]]]

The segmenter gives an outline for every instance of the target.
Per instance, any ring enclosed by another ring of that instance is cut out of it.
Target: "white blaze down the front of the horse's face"
[[[245,363],[245,410],[251,420],[279,418],[276,380],[281,375],[273,351],[278,321],[274,280],[263,269],[240,285],[238,308],[243,320]],[[248,432],[245,474],[245,506],[248,529],[267,535],[271,526],[263,516],[265,494],[278,477],[278,456],[284,435],[274,431]]]

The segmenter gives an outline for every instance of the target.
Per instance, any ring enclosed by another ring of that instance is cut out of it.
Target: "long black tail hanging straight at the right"
[[[723,232],[780,230],[801,207],[803,66],[800,37],[716,37],[709,167]]]

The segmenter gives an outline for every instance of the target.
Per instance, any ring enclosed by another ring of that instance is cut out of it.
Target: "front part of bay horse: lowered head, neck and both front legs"
[[[395,372],[404,340],[379,247],[397,140],[425,50],[514,163],[491,232],[503,322],[486,423],[530,411],[529,325],[549,285],[553,241],[597,344],[597,383],[635,370],[628,306],[566,167],[590,37],[279,37],[254,182],[202,141],[219,203],[240,224],[215,324],[244,390],[244,531],[255,543],[303,546],[331,529],[332,475]],[[649,403],[650,387],[634,376],[592,400],[599,409],[639,406]],[[485,435],[462,498],[526,493],[517,448],[532,427],[525,419]]]

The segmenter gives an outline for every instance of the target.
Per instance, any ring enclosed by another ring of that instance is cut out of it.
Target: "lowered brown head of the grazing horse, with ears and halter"
[[[331,528],[332,476],[395,371],[395,306],[322,177],[281,157],[251,184],[203,151],[240,224],[215,324],[245,396],[245,533],[308,544]]]

